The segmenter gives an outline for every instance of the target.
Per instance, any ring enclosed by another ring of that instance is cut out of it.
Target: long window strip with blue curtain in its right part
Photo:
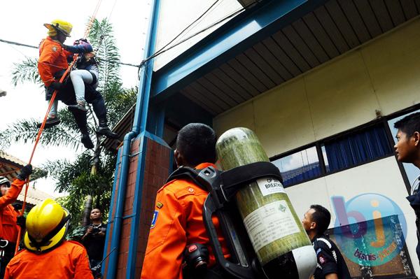
[[[275,157],[272,163],[279,168],[284,187],[349,169],[393,154],[385,129],[384,122],[379,122],[346,131],[309,148]]]

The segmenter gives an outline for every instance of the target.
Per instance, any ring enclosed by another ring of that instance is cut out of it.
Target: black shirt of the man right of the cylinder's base
[[[330,273],[336,273],[339,279],[351,279],[343,256],[330,238],[315,236],[312,245],[316,252],[314,279],[325,278]]]

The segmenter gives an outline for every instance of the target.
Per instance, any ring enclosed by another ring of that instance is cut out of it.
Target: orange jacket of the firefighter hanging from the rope
[[[67,69],[69,66],[67,57],[69,55],[73,55],[73,53],[64,50],[51,37],[41,41],[41,45],[39,45],[38,72],[46,87],[55,81],[54,73]]]

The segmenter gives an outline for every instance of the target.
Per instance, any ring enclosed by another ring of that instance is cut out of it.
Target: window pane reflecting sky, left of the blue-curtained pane
[[[272,161],[272,163],[279,168],[284,187],[321,176],[315,146],[281,157]]]

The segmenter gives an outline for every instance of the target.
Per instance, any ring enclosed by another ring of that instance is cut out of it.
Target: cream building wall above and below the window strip
[[[299,148],[389,115],[420,101],[420,19],[416,18],[288,83],[269,90],[214,119],[217,134],[248,127],[260,138],[269,157]],[[349,199],[363,193],[383,194],[395,201],[408,225],[407,248],[414,271],[414,212],[395,157],[311,180],[286,189],[297,214],[313,203],[330,209],[331,196]]]

